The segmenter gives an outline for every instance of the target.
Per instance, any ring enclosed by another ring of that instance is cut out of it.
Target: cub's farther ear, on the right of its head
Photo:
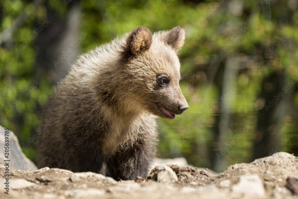
[[[184,44],[185,30],[180,26],[174,27],[172,30],[163,32],[161,39],[177,52]]]

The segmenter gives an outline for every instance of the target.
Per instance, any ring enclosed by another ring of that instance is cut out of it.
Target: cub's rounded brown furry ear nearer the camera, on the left
[[[126,42],[125,54],[128,56],[140,54],[150,48],[152,33],[148,28],[139,26],[129,33]]]

